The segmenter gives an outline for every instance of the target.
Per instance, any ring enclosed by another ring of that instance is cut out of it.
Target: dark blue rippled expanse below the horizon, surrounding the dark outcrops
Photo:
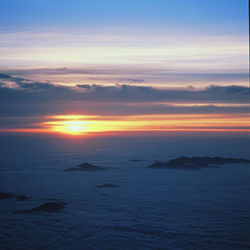
[[[250,249],[250,165],[148,168],[180,156],[249,159],[249,136],[0,135],[0,192],[29,197],[0,199],[0,249]]]

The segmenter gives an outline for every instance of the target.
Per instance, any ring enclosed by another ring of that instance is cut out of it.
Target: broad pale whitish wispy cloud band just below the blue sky
[[[248,36],[79,28],[0,32],[0,67],[124,65],[172,72],[246,72]]]

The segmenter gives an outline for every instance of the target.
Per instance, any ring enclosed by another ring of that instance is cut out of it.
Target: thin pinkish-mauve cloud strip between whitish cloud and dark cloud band
[[[186,64],[188,63],[185,62]],[[198,63],[198,62],[197,62]],[[30,68],[30,69],[16,69],[16,70],[2,70],[2,72],[15,75],[17,77],[33,77],[34,79],[51,79],[61,81],[63,78],[71,79],[71,82],[88,81],[89,83],[151,83],[154,85],[164,86],[173,83],[183,84],[244,84],[248,83],[248,72],[234,72],[234,73],[181,73],[176,72],[172,67],[150,67],[150,66],[100,66],[83,67],[83,68]],[[61,77],[63,75],[63,77]],[[66,80],[67,81],[67,80]]]

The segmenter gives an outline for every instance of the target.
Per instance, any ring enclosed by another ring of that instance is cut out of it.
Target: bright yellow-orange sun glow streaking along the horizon
[[[56,115],[43,117],[36,128],[0,129],[0,132],[50,133],[69,136],[140,132],[250,132],[248,114],[164,114],[91,116]]]

